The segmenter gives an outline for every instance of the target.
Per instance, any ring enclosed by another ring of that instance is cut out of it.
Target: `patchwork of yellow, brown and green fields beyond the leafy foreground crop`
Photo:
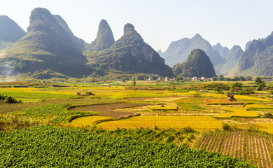
[[[235,94],[236,101],[230,101],[225,94],[174,87],[177,85],[169,90],[163,84],[158,87],[151,83],[142,83],[139,87],[87,83],[41,88],[0,85],[0,94],[22,100],[19,104],[5,104],[0,100],[0,130],[55,125],[110,132],[106,135],[126,130],[119,135],[115,133],[116,137],[130,139],[134,130],[151,130],[141,140],[204,148],[258,167],[272,164],[272,137],[260,137],[255,140],[257,145],[251,145],[256,135],[240,133],[255,128],[257,136],[273,134],[273,119],[267,118],[273,113],[273,101],[265,97],[265,93]],[[224,124],[232,131],[223,131]],[[176,133],[187,129],[194,131],[185,135]],[[172,130],[172,134],[159,139],[153,130]],[[257,152],[250,153],[253,150]]]

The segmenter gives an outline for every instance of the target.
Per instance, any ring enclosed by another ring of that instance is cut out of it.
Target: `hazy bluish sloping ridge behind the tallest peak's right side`
[[[87,43],[85,43],[85,41],[83,41],[82,39],[76,37],[73,32],[71,31],[71,29],[69,29],[69,26],[67,25],[67,23],[64,21],[64,19],[60,16],[60,15],[53,15],[55,20],[57,20],[57,22],[59,23],[59,25],[62,26],[62,28],[64,28],[64,30],[66,31],[67,34],[69,34],[71,40],[73,41],[73,43],[80,48],[81,50],[85,50],[85,45],[87,45]]]

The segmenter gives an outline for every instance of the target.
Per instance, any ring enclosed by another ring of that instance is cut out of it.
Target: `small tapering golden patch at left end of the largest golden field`
[[[88,116],[82,118],[76,118],[71,121],[73,127],[89,127],[99,120],[109,120],[113,119],[111,117],[102,117],[102,116]]]

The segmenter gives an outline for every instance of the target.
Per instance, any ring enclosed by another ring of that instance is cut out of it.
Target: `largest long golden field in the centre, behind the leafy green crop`
[[[97,126],[106,130],[115,130],[117,128],[137,129],[141,127],[153,129],[155,125],[160,129],[172,128],[175,130],[190,126],[197,131],[214,130],[222,127],[221,121],[211,116],[138,116],[99,123]]]

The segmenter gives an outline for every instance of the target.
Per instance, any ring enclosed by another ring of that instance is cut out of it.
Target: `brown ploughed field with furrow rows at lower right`
[[[273,168],[273,135],[252,132],[205,133],[197,148],[230,155],[257,167]]]

